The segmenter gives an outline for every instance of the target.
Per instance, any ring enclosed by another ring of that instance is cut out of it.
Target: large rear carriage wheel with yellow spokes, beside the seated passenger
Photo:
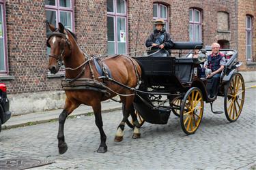
[[[240,73],[235,73],[225,88],[224,108],[229,122],[235,122],[239,118],[244,106],[244,96],[244,79]]]

